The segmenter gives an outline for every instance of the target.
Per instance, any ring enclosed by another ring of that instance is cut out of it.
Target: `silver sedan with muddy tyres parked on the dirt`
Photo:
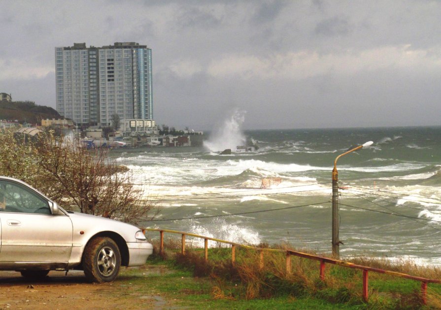
[[[83,270],[110,282],[120,266],[141,266],[153,246],[130,224],[65,211],[28,184],[0,176],[0,270],[45,277],[50,270]]]

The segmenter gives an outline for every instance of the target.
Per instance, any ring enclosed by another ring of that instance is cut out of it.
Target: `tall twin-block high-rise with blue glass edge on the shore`
[[[153,119],[152,50],[135,42],[55,48],[57,112],[77,124]]]

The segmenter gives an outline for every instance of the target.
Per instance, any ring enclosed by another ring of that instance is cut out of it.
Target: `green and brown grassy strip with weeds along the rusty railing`
[[[176,245],[176,244],[175,244]],[[254,251],[237,249],[236,264],[231,264],[231,248],[203,249],[180,246],[166,248],[166,259],[152,255],[148,264],[163,266],[168,273],[149,275],[157,292],[187,309],[441,309],[441,285],[429,284],[428,306],[421,305],[421,283],[384,274],[369,273],[369,300],[362,298],[362,271],[326,264],[325,281],[319,278],[319,263],[292,257],[291,275],[285,271],[285,255],[265,254],[264,269]],[[439,278],[437,269],[413,269],[413,265],[376,268]],[[412,273],[413,272],[413,273]],[[145,280],[144,280],[145,281]]]

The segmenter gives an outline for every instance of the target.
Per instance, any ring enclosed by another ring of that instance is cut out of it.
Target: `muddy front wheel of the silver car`
[[[115,241],[96,237],[87,244],[83,254],[83,270],[92,282],[112,282],[118,276],[121,254]]]

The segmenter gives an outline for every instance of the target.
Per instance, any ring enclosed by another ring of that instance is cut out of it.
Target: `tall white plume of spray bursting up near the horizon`
[[[212,152],[225,149],[236,150],[237,145],[245,144],[245,135],[241,126],[245,121],[245,111],[235,109],[223,124],[216,128],[210,138],[204,142],[204,146]]]

